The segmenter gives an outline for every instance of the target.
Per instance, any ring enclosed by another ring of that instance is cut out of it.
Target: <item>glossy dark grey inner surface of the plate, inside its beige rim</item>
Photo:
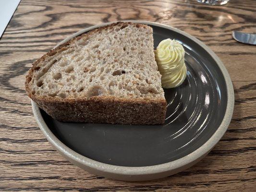
[[[155,48],[161,40],[175,38],[186,51],[186,80],[165,90],[164,125],[63,123],[41,110],[49,129],[73,151],[111,165],[152,166],[188,155],[218,129],[227,107],[227,90],[217,63],[186,36],[152,27]]]

